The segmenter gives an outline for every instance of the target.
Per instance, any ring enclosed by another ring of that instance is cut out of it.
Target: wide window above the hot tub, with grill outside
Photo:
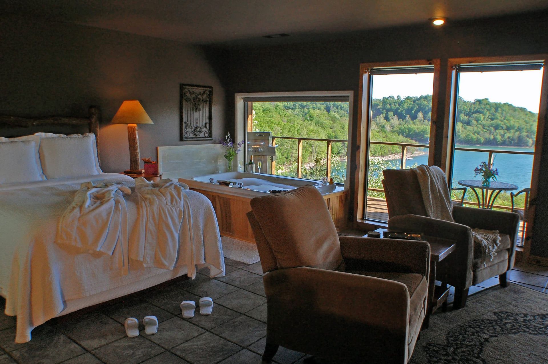
[[[243,111],[239,135],[246,140],[241,160],[253,154],[255,163],[262,162],[261,173],[347,184],[350,100],[350,91],[237,95],[237,112]],[[250,132],[270,132],[275,156],[257,155]]]

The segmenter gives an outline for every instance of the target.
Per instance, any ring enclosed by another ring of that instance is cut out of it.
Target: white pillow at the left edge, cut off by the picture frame
[[[13,139],[0,138],[0,184],[45,180],[36,140]]]

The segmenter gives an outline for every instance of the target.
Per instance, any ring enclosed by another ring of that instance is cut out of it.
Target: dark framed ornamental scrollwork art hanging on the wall
[[[213,140],[211,132],[213,87],[180,84],[181,142]]]

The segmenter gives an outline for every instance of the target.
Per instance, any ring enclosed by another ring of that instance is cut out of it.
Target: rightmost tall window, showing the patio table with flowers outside
[[[515,188],[513,193],[530,189],[544,62],[460,63],[453,72],[452,187],[481,180],[475,168],[486,162],[498,172],[490,187],[504,182]],[[528,207],[529,193],[512,197],[510,191],[491,191],[467,188],[465,205],[518,212]],[[518,245],[524,243],[527,224],[520,221]]]

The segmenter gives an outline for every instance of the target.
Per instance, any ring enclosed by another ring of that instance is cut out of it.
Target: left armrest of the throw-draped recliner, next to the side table
[[[421,233],[441,239],[472,241],[472,230],[468,226],[420,215],[394,216],[389,219],[388,228],[397,232]]]

